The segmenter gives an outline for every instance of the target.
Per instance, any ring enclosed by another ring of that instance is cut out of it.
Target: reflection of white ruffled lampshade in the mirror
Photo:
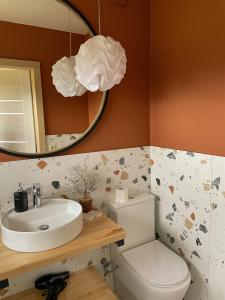
[[[56,90],[64,97],[82,96],[87,90],[77,80],[76,56],[63,57],[52,66],[52,79]]]

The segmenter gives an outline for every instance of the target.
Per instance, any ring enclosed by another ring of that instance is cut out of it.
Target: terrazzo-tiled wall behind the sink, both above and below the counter
[[[105,209],[107,200],[113,197],[114,189],[118,185],[129,187],[130,193],[146,191],[149,188],[151,167],[149,147],[1,163],[1,213],[13,208],[13,193],[17,189],[18,182],[21,182],[24,188],[31,187],[33,183],[40,183],[42,195],[45,197],[78,199],[79,195],[73,193],[68,178],[72,166],[82,165],[85,162],[90,168],[94,168],[102,179],[99,189],[92,195],[94,205],[101,210]],[[0,299],[32,287],[37,277],[49,272],[64,270],[74,272],[88,264],[94,264],[102,272],[100,264],[102,257],[110,259],[108,247],[58,262],[47,269],[26,273],[10,280],[9,288],[0,289]],[[108,281],[113,287],[113,278],[108,278]]]

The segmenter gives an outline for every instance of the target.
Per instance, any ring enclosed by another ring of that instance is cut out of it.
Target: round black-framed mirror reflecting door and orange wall
[[[34,158],[78,144],[100,120],[108,92],[64,97],[52,67],[95,35],[87,19],[67,0],[1,0],[0,35],[0,151]]]

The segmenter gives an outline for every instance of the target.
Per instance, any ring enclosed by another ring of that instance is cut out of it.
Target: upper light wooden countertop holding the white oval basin
[[[6,248],[0,241],[0,280],[15,278],[33,269],[112,244],[125,236],[124,229],[106,216],[101,216],[91,222],[85,222],[81,234],[72,242],[44,252],[16,252]]]

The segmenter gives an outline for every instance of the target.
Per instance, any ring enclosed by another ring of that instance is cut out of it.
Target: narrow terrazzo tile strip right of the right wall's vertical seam
[[[209,300],[225,299],[225,158],[212,156]]]

